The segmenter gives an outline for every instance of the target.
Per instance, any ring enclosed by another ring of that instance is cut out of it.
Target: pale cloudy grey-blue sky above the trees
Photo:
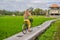
[[[0,10],[24,11],[30,7],[48,9],[51,4],[60,5],[60,0],[0,0]]]

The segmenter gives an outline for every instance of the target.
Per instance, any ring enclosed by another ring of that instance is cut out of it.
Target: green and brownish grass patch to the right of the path
[[[50,28],[38,37],[38,40],[60,40],[60,20],[52,23]]]

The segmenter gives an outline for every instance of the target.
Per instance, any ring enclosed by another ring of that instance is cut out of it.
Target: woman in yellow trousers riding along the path
[[[24,13],[24,22],[28,25],[28,32],[30,32],[31,22],[29,18],[32,18],[31,12],[29,9],[27,9]]]

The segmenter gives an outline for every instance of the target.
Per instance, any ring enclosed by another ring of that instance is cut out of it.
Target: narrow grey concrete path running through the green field
[[[50,26],[50,24],[54,21],[55,20],[46,21],[37,27],[31,28],[33,30],[32,32],[27,32],[26,34],[23,34],[22,32],[20,32],[4,40],[34,40],[38,35],[44,32]]]

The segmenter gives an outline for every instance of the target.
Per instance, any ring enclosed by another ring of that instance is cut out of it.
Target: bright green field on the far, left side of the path
[[[46,18],[43,16],[33,16],[33,27],[40,25],[41,23],[51,20],[53,18]],[[9,36],[22,31],[23,24],[22,16],[1,16],[0,17],[0,40],[3,40]]]

